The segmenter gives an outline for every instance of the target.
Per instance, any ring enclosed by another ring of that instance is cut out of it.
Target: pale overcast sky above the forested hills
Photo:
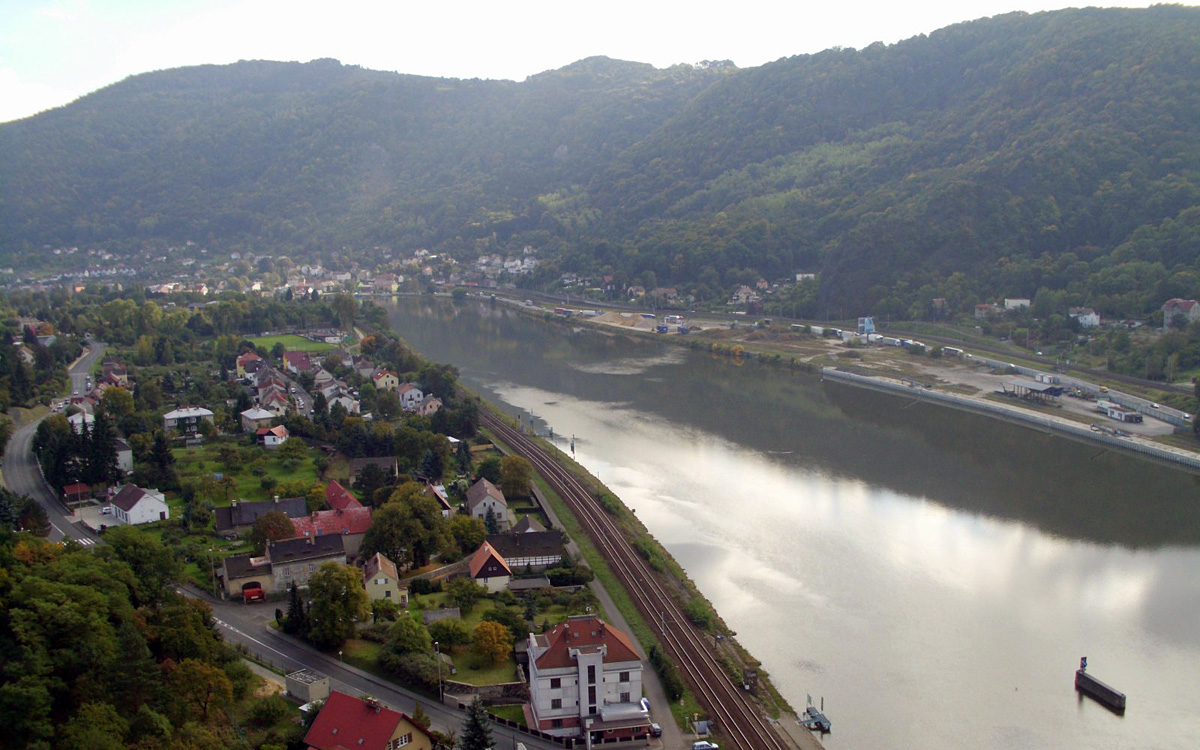
[[[0,122],[136,73],[336,58],[421,76],[522,80],[581,58],[739,67],[896,42],[1056,0],[0,0]],[[1079,4],[1074,4],[1079,5]],[[1114,2],[1145,7],[1150,1]]]

